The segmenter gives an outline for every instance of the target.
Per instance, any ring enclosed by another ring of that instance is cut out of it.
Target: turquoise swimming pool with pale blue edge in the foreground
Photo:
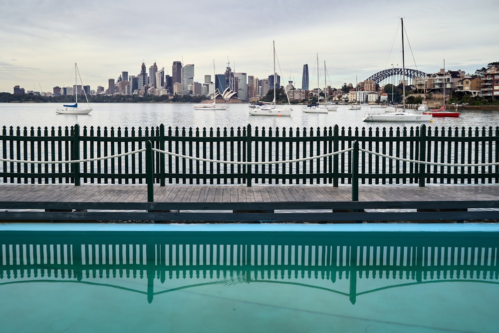
[[[1,332],[477,332],[499,227],[0,228]]]

